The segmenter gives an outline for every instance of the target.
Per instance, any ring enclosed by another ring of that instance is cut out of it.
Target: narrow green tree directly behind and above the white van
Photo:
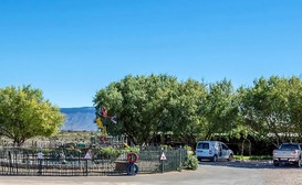
[[[238,96],[230,80],[210,84],[201,104],[201,115],[206,117],[204,139],[210,140],[214,134],[231,134],[237,129],[238,105]]]

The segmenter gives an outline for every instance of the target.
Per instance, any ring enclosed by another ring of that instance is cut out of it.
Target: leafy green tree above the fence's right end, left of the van
[[[171,96],[173,95],[173,96]],[[183,143],[194,144],[202,137],[206,118],[200,115],[200,106],[206,99],[206,85],[194,79],[179,83],[167,96],[163,107],[166,108],[166,124],[174,138]]]

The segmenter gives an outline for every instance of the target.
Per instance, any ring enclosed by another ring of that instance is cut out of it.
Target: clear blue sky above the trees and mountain
[[[93,106],[125,75],[179,80],[302,74],[301,0],[1,0],[0,88]]]

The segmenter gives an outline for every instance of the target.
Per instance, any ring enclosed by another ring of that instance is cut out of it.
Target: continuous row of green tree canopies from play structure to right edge
[[[277,144],[302,138],[302,81],[299,77],[261,77],[251,87],[235,89],[231,81],[178,81],[168,75],[126,76],[94,97],[95,108],[107,107],[118,123],[108,132],[126,134],[134,143],[171,133],[183,143],[254,137]]]

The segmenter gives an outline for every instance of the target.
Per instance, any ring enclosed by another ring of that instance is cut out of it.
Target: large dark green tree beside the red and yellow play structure
[[[110,133],[126,134],[135,144],[147,142],[158,132],[162,100],[171,84],[176,85],[176,79],[166,75],[129,75],[101,89],[94,98],[95,108],[105,106],[108,115],[117,115],[117,124],[105,119]]]

